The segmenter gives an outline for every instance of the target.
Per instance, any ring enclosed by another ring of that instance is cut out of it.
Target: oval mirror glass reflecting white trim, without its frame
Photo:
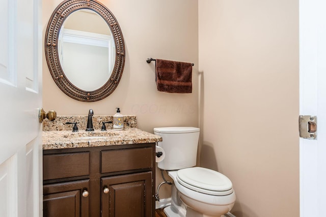
[[[92,91],[110,78],[115,44],[110,28],[96,12],[71,13],[60,29],[58,52],[67,79],[80,89]]]

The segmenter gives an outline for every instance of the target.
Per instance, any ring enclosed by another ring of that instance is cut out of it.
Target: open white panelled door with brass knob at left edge
[[[42,216],[41,0],[0,5],[0,215]]]

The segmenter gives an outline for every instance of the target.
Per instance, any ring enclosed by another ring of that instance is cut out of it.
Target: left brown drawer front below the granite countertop
[[[89,175],[89,152],[43,156],[43,180]]]

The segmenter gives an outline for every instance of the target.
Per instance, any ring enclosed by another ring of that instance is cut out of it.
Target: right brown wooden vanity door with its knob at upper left
[[[152,172],[101,179],[102,217],[152,216]]]

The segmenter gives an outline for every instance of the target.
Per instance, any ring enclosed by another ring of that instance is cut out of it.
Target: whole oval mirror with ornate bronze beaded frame
[[[96,1],[68,0],[53,12],[45,35],[51,76],[69,97],[94,102],[117,87],[124,41],[113,14]]]

